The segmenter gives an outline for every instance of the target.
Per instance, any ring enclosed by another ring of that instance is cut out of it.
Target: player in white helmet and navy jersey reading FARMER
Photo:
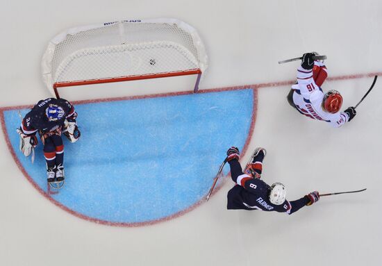
[[[237,183],[229,190],[227,195],[227,208],[229,210],[265,210],[292,214],[300,208],[312,205],[319,200],[319,193],[314,191],[296,201],[287,201],[283,184],[274,183],[269,186],[261,180],[260,175],[265,154],[265,149],[257,148],[243,173],[238,161],[239,149],[231,147],[227,151],[227,161],[231,167],[231,178],[233,182]]]

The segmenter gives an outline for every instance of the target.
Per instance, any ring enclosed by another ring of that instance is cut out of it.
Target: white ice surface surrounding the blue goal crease
[[[323,90],[354,106],[380,74],[381,1],[23,1],[3,3],[0,107],[50,97],[40,60],[65,28],[118,19],[174,17],[206,44],[201,89],[262,84],[249,151],[268,151],[262,178],[288,199],[313,190],[359,194],[322,198],[293,215],[226,210],[229,180],[198,208],[151,226],[79,219],[33,188],[0,138],[0,265],[381,265],[381,81],[352,122],[331,128],[285,100],[306,51],[326,54]],[[369,75],[369,76],[368,76]],[[235,127],[232,127],[235,131]],[[97,150],[94,150],[96,153]],[[246,162],[249,153],[242,158]],[[189,162],[192,167],[198,167]],[[219,167],[219,165],[217,165]]]

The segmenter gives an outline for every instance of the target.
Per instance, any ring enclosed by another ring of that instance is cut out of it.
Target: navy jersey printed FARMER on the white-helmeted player
[[[252,178],[243,174],[238,160],[229,161],[231,178],[237,183],[227,194],[227,209],[229,210],[265,210],[292,214],[306,206],[310,200],[304,196],[296,201],[285,200],[281,205],[269,201],[271,187],[260,178]]]

